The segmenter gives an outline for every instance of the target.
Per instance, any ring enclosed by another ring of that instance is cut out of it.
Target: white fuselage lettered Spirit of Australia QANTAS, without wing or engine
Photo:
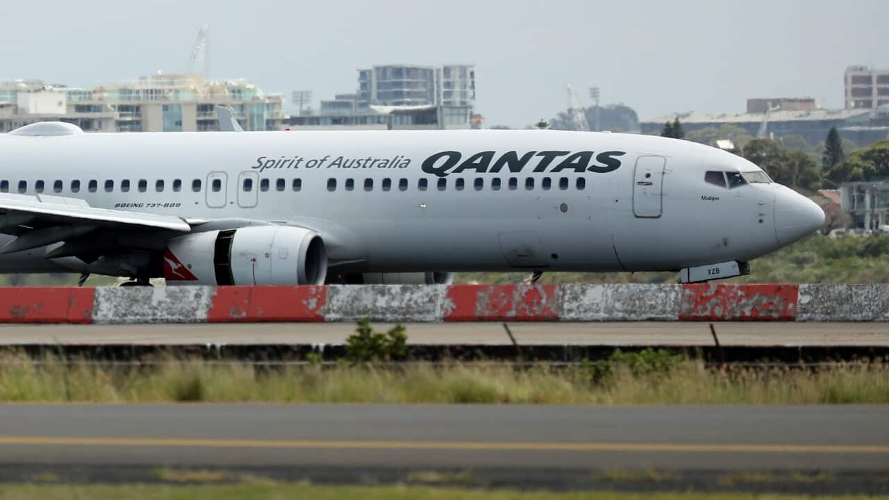
[[[709,171],[759,169],[693,142],[621,133],[0,135],[0,191],[34,195],[42,182],[46,195],[216,229],[296,225],[322,235],[348,272],[679,270],[749,261],[820,223],[817,206],[781,185],[728,189],[705,182]],[[0,256],[0,272],[67,269],[44,253]]]

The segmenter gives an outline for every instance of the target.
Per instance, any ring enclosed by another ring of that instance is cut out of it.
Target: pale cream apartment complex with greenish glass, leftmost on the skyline
[[[84,132],[219,130],[216,106],[230,106],[244,130],[279,130],[283,98],[246,80],[152,75],[135,82],[74,88],[39,80],[0,82],[0,133],[58,120]]]

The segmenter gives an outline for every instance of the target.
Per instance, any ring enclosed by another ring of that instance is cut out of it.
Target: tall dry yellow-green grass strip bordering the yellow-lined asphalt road
[[[663,351],[576,367],[254,367],[167,360],[150,367],[0,358],[0,402],[837,404],[889,403],[889,365],[707,369]]]

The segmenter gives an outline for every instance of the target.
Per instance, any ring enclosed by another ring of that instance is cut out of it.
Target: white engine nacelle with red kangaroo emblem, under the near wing
[[[322,285],[326,276],[321,236],[290,226],[188,234],[164,253],[168,285]]]

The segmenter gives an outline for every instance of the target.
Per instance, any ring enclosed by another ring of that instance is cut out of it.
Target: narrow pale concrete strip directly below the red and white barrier
[[[384,330],[390,325],[374,325]],[[510,343],[501,323],[410,323],[408,343]],[[510,323],[523,345],[713,345],[707,323]],[[716,323],[723,345],[889,346],[889,323]],[[3,325],[9,344],[341,344],[350,323]]]

